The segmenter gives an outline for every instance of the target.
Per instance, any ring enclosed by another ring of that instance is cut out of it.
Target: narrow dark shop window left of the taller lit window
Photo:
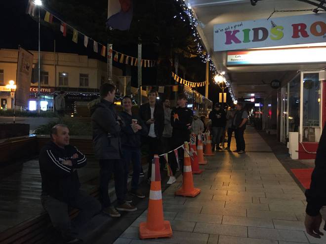
[[[299,132],[300,125],[300,76],[288,84],[288,131]]]

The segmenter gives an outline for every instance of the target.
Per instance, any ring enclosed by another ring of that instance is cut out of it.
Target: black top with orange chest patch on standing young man
[[[179,143],[189,141],[189,125],[193,122],[193,110],[187,107],[174,107],[171,111],[172,139]]]

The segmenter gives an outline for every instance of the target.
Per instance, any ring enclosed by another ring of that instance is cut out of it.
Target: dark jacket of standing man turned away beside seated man
[[[121,159],[120,132],[122,122],[118,119],[114,104],[104,99],[90,108],[93,144],[99,159]]]

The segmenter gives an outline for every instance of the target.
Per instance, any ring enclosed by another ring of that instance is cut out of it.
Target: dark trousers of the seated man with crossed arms
[[[45,211],[49,214],[53,226],[60,231],[65,241],[78,237],[80,229],[95,214],[101,211],[101,204],[82,190],[68,202],[59,201],[48,195],[42,195],[41,203]],[[69,218],[69,207],[80,210],[72,223]]]

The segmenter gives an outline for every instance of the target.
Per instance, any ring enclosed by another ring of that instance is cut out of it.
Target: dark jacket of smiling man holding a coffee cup
[[[124,111],[119,115],[123,121],[123,127],[120,133],[122,146],[139,148],[141,146],[141,136],[147,136],[148,134],[147,126],[144,121],[139,116],[135,114],[130,115]],[[137,119],[138,124],[142,127],[142,129],[136,133],[134,133],[131,128],[132,119]]]

